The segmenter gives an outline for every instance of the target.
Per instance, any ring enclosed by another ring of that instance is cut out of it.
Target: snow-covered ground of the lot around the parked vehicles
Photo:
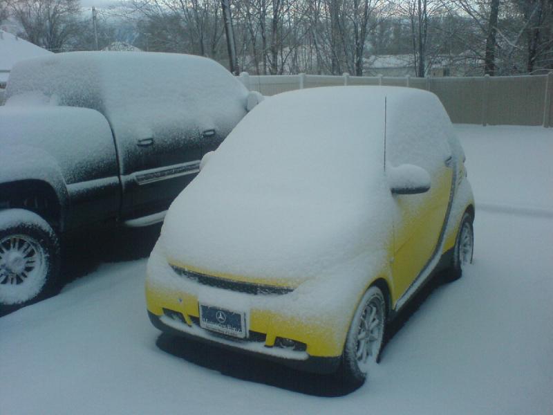
[[[74,247],[87,259],[71,278],[93,272],[0,317],[0,414],[552,414],[553,131],[456,129],[477,201],[474,265],[404,316],[363,387],[160,336],[146,259],[124,261],[131,234],[93,259],[91,241]],[[138,237],[147,251],[155,233]]]

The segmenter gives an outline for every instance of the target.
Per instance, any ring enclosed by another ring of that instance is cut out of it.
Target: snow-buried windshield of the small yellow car
[[[368,190],[371,176],[382,176],[383,151],[382,92],[304,90],[259,104],[200,176],[221,191],[328,198]]]

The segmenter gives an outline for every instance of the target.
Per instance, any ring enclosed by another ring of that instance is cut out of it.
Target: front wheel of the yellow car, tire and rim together
[[[344,344],[338,375],[346,385],[357,387],[365,382],[378,362],[385,328],[386,301],[380,288],[371,286],[357,306]]]

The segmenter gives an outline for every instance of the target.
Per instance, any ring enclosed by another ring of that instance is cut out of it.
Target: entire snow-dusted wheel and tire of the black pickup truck
[[[0,210],[0,307],[47,295],[58,268],[59,242],[50,225],[29,210]]]

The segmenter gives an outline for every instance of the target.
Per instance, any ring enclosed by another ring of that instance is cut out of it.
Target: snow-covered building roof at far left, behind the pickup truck
[[[6,82],[15,62],[30,57],[49,55],[49,50],[27,42],[16,35],[0,30],[0,88],[6,88]]]

